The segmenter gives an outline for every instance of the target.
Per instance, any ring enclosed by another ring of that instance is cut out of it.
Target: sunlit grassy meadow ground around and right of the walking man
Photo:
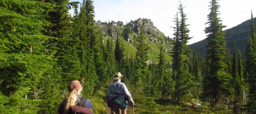
[[[133,86],[127,86],[128,90],[130,90],[133,100],[135,102],[134,113],[135,114],[230,114],[232,111],[230,109],[225,110],[225,106],[221,106],[222,108],[215,108],[214,113],[212,113],[212,108],[209,105],[204,105],[201,101],[194,100],[200,104],[202,104],[201,108],[194,109],[186,104],[191,103],[191,101],[182,101],[180,103],[169,103],[165,100],[156,101],[159,106],[155,112],[150,112],[148,106],[146,105],[147,97],[142,94],[136,95],[133,92]],[[95,114],[110,114],[108,112],[107,104],[104,102],[105,92],[107,91],[107,86],[102,87],[102,90],[95,95],[94,98],[91,99],[92,106],[94,108]],[[110,110],[110,108],[109,108]],[[110,111],[109,111],[110,112]],[[128,106],[128,114],[133,114],[133,109]]]

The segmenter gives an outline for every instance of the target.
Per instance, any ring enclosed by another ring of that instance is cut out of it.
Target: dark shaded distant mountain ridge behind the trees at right
[[[254,24],[256,26],[256,18],[254,18]],[[235,27],[225,30],[224,36],[227,42],[227,47],[228,49],[230,49],[230,54],[233,55],[234,41],[236,41],[237,48],[241,51],[243,60],[245,60],[246,44],[250,37],[250,32],[251,32],[250,25],[251,25],[251,20],[247,20]],[[204,39],[197,43],[190,44],[189,47],[191,49],[195,49],[197,52],[200,52],[200,54],[206,57],[206,45],[207,45],[207,40]]]

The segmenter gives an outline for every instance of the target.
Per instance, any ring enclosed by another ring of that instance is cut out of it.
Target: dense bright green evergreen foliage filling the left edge
[[[0,2],[0,113],[56,109],[60,76],[52,56],[56,51],[47,48],[47,42],[56,39],[43,35],[51,7],[27,0]]]

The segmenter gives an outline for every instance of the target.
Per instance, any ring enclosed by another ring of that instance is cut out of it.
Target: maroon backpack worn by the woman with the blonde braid
[[[93,114],[91,108],[84,106],[86,104],[87,98],[82,98],[80,102],[69,108],[68,114]]]

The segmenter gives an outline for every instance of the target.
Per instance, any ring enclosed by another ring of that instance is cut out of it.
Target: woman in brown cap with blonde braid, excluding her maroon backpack
[[[78,103],[81,103],[82,98],[85,99],[84,106],[92,109],[92,103],[89,99],[84,98],[80,95],[82,87],[79,81],[71,81],[68,84],[69,94],[68,96],[60,103],[57,114],[72,114],[70,108],[76,106]]]

